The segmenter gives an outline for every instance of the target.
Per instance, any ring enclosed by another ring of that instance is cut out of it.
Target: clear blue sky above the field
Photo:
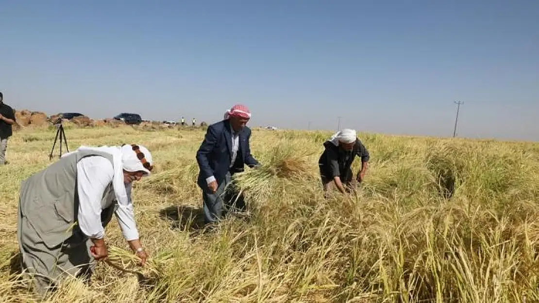
[[[539,1],[0,1],[0,91],[93,118],[539,140]]]

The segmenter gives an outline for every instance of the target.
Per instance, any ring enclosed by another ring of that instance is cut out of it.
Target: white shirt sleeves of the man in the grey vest
[[[101,226],[101,199],[105,188],[112,182],[113,175],[112,163],[104,157],[86,157],[77,163],[79,228],[88,237],[101,239],[105,236],[105,230]],[[128,205],[119,205],[115,212],[122,234],[127,241],[139,238],[131,200],[131,189],[131,184],[126,186]],[[117,203],[116,200],[114,203]]]

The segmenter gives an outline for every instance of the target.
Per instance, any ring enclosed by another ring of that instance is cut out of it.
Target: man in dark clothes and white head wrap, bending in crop
[[[357,138],[356,131],[344,129],[335,133],[324,142],[325,150],[320,156],[318,165],[324,191],[327,192],[334,184],[341,193],[354,192],[356,183],[351,169],[355,156],[361,158],[361,170],[355,181],[363,182],[369,151]]]

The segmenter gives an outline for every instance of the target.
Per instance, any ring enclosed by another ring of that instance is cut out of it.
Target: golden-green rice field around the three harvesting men
[[[70,150],[153,153],[156,173],[133,193],[150,260],[136,265],[113,219],[92,283],[67,281],[46,302],[539,302],[539,144],[360,133],[371,156],[360,191],[324,199],[317,158],[331,132],[253,130],[264,167],[236,178],[248,212],[205,230],[204,130],[65,131]],[[17,132],[0,167],[2,302],[36,300],[19,276],[18,190],[51,163],[55,133]]]

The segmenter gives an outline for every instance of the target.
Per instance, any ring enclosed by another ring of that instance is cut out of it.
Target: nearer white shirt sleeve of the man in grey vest
[[[79,228],[90,238],[105,237],[101,224],[101,199],[112,181],[112,163],[100,156],[88,157],[77,163],[77,190],[79,195]]]

